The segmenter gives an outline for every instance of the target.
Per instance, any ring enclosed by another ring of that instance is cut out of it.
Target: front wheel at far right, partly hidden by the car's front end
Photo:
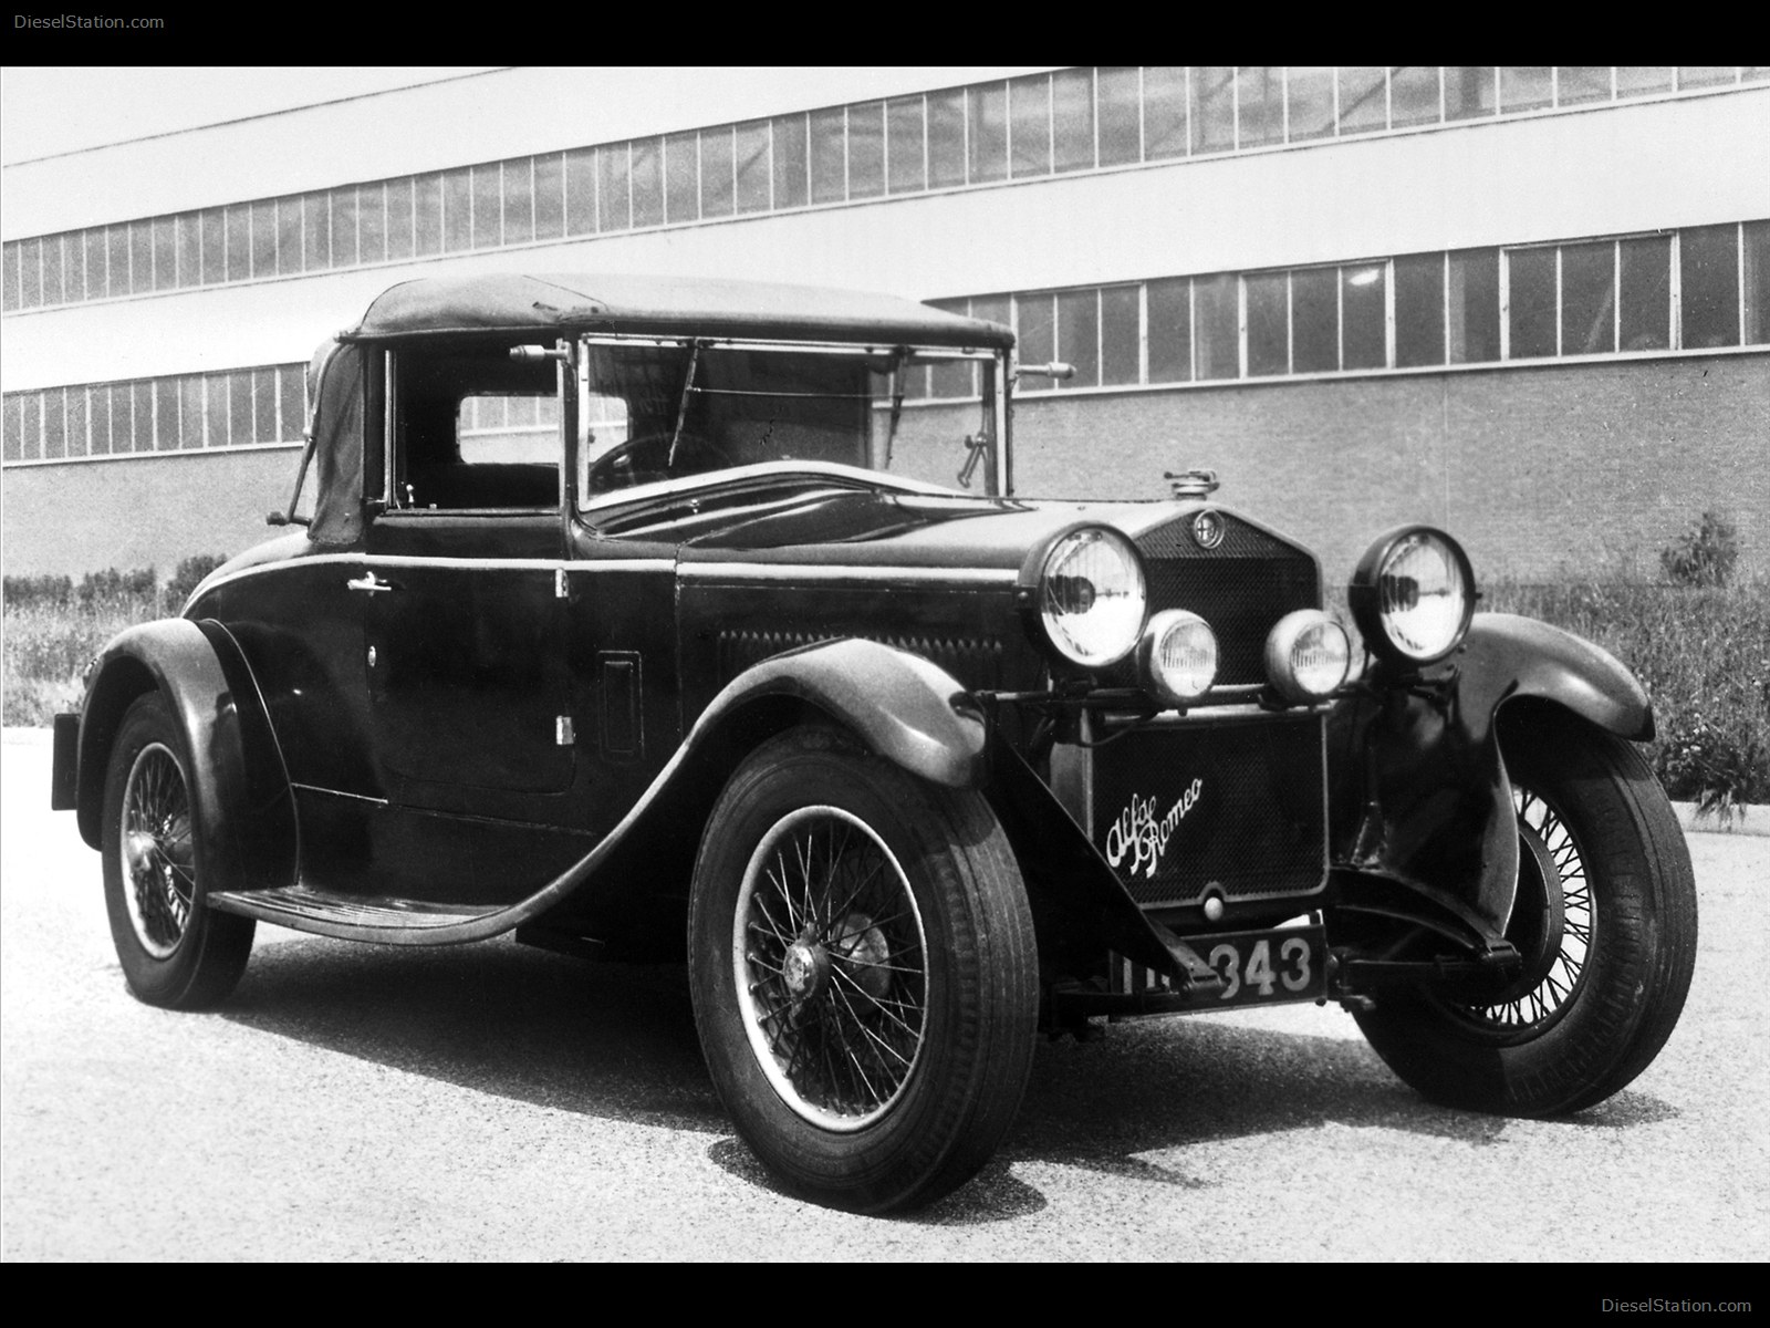
[[[1494,1004],[1407,992],[1379,997],[1358,1023],[1432,1101],[1561,1116],[1634,1080],[1678,1023],[1696,967],[1696,878],[1630,744],[1543,706],[1503,712],[1499,733],[1520,839],[1508,937],[1528,972]]]

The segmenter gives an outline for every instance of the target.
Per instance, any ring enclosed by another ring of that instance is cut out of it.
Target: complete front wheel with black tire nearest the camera
[[[738,1133],[795,1193],[917,1208],[989,1160],[1032,1069],[1039,961],[979,793],[828,730],[759,747],[701,841],[701,1046]]]

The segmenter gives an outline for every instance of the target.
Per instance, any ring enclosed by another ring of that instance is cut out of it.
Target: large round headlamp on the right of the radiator
[[[1444,531],[1398,526],[1358,560],[1347,600],[1372,652],[1420,668],[1444,659],[1469,630],[1474,570]]]

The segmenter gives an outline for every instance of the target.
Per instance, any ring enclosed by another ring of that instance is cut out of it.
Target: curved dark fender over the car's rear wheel
[[[166,698],[184,735],[209,869],[225,889],[289,885],[297,853],[289,776],[251,668],[216,622],[142,623],[99,653],[80,715],[80,838],[103,843],[112,744],[129,705],[152,691]]]

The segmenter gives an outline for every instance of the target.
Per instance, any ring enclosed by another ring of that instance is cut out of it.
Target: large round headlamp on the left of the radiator
[[[1071,531],[1044,558],[1035,604],[1046,643],[1066,660],[1089,669],[1117,664],[1143,632],[1143,563],[1117,531]]]

